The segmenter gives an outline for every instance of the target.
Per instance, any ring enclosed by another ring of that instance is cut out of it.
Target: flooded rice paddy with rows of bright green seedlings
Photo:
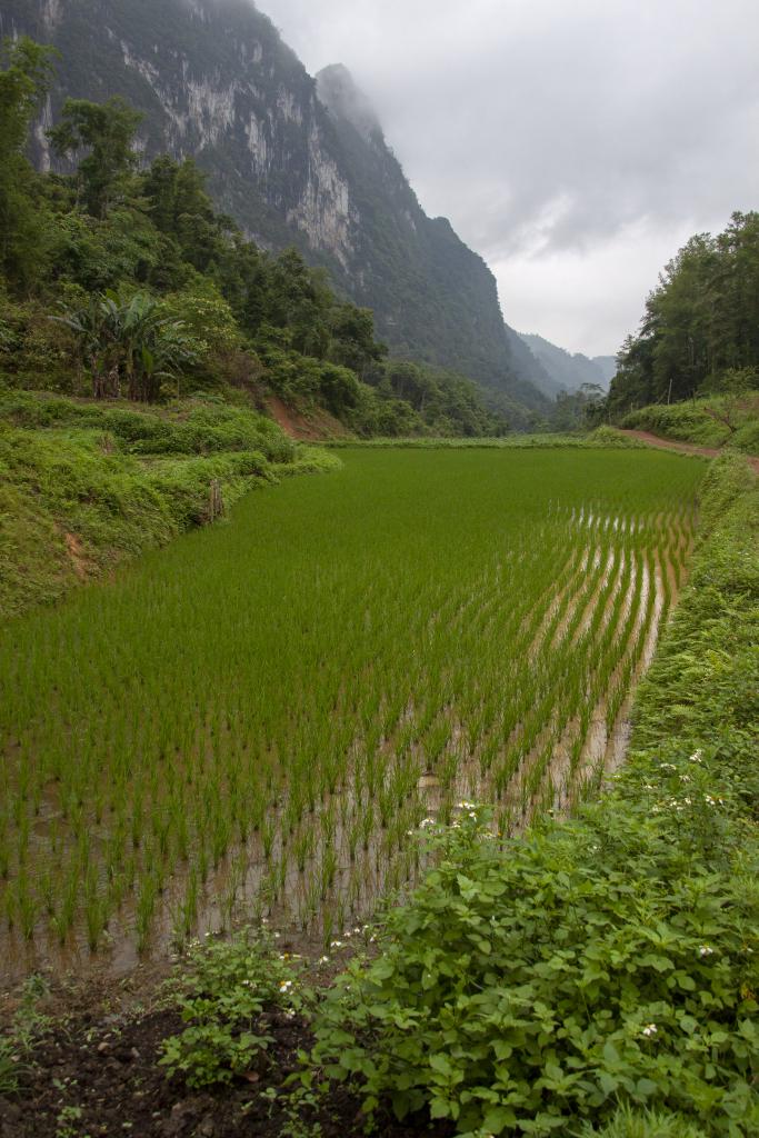
[[[263,916],[329,942],[424,819],[510,834],[621,761],[703,464],[340,456],[0,629],[7,978]]]

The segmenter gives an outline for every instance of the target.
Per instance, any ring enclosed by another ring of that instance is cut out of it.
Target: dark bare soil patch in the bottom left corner
[[[228,1087],[199,1091],[158,1066],[162,1040],[182,1028],[176,1011],[160,1004],[114,1011],[118,993],[107,989],[97,1005],[75,1005],[73,993],[68,1000],[71,1012],[59,1014],[39,1040],[18,1094],[0,1097],[0,1138],[277,1138],[292,1132],[284,1129],[292,1115],[284,1082],[297,1067],[298,1050],[311,1045],[304,1020],[279,1009],[264,1013],[254,1030],[272,1042],[256,1067]],[[340,1089],[302,1118],[323,1138],[364,1133],[358,1102]],[[452,1131],[440,1124],[430,1129],[427,1120],[399,1124],[386,1112],[376,1132],[446,1138]]]

